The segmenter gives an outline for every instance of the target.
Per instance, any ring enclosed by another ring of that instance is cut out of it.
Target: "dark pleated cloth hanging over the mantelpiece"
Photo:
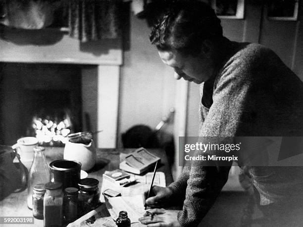
[[[121,36],[120,0],[69,0],[69,35],[81,42]]]

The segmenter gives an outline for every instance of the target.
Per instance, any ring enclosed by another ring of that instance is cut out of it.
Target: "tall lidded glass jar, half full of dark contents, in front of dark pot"
[[[62,226],[63,192],[62,183],[48,182],[43,202],[44,227]]]

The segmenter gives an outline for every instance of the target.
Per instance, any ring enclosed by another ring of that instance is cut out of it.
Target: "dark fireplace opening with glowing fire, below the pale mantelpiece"
[[[35,136],[40,145],[62,146],[82,131],[82,67],[2,63],[1,143]]]

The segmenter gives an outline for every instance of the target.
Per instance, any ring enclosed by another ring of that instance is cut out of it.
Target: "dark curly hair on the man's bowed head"
[[[160,50],[196,55],[205,39],[223,37],[220,19],[199,0],[173,0],[152,28],[150,40]]]

